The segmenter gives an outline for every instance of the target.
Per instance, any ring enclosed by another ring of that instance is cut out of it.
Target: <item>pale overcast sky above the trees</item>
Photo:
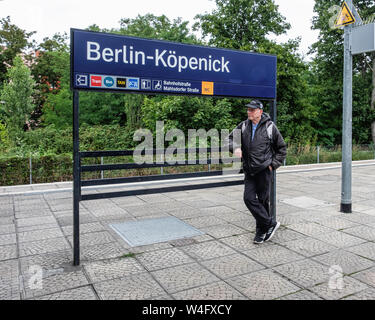
[[[309,46],[317,40],[318,33],[311,30],[314,0],[275,0],[281,14],[292,25],[286,36],[302,37],[301,50],[306,54]],[[97,24],[101,28],[119,26],[121,18],[134,18],[138,14],[165,14],[170,19],[182,17],[194,22],[198,13],[210,12],[213,0],[0,0],[0,18],[11,17],[12,23],[27,31],[37,31],[34,39],[41,42],[56,32],[73,28],[87,28]]]

